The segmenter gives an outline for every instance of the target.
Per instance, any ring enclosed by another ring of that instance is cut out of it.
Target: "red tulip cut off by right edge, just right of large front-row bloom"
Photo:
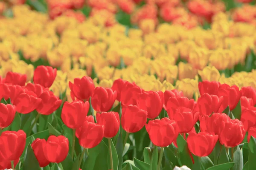
[[[256,108],[242,108],[241,122],[243,122],[244,130],[248,131],[250,127],[256,127]]]

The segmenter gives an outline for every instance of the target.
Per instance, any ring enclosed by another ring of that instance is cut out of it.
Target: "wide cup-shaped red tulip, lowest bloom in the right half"
[[[218,135],[212,135],[206,132],[200,132],[198,134],[191,133],[187,138],[189,150],[195,156],[208,156],[216,142],[218,141]]]

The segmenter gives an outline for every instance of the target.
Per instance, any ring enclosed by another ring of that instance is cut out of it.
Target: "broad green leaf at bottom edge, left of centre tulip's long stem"
[[[88,149],[89,155],[84,161],[82,170],[109,170],[108,169],[108,146],[102,141],[96,147]]]

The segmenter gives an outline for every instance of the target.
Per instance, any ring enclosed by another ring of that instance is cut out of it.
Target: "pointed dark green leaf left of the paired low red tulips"
[[[35,158],[34,151],[30,144],[26,149],[23,170],[41,170],[38,160]]]

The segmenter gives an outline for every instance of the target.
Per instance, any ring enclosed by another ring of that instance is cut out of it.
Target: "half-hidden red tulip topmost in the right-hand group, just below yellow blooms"
[[[220,87],[220,85],[220,82],[210,82],[208,80],[204,80],[198,83],[198,89],[201,96],[205,93],[218,95],[218,88]]]

